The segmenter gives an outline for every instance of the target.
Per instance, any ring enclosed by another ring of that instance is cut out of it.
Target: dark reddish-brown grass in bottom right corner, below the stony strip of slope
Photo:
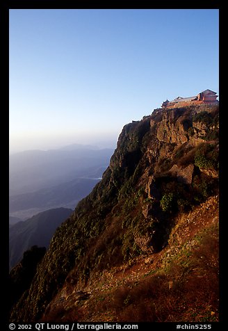
[[[117,321],[218,321],[218,298],[218,237],[209,234],[189,263],[125,284],[102,309],[114,310]]]

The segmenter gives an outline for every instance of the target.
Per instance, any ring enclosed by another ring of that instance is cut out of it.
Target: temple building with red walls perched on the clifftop
[[[194,104],[218,104],[218,95],[211,90],[204,90],[195,97],[177,97],[176,99],[169,101],[166,100],[161,105],[162,108],[179,108],[183,106],[190,106]]]

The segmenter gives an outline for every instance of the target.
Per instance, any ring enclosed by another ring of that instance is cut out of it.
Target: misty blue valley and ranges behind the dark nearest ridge
[[[101,179],[112,154],[111,148],[75,144],[10,155],[10,223],[47,209],[74,209]]]

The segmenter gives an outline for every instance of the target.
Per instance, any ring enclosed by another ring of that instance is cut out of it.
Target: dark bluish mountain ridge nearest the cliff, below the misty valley
[[[13,268],[33,245],[48,247],[56,228],[70,216],[72,209],[58,208],[18,222],[9,229],[9,264]]]

